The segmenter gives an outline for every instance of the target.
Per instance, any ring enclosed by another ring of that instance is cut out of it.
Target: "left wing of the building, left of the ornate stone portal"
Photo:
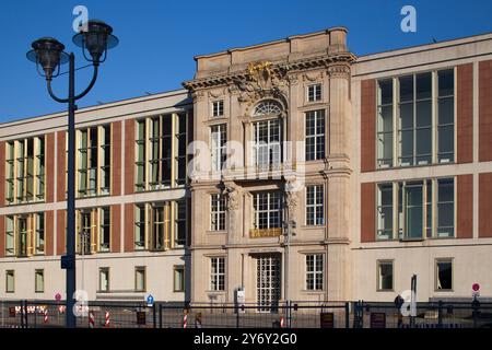
[[[77,289],[89,300],[188,298],[190,108],[176,91],[78,110]],[[2,299],[65,298],[66,130],[66,114],[0,126]]]

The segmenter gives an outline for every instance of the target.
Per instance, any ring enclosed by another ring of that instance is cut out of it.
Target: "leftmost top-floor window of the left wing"
[[[44,200],[44,137],[7,142],[5,183],[8,205]]]

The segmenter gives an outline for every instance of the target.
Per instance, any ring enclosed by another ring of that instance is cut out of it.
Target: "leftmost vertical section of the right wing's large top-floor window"
[[[393,166],[393,79],[378,82],[377,105],[377,165]]]

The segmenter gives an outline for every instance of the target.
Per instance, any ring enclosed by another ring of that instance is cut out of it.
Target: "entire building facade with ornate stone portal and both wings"
[[[89,299],[393,301],[412,276],[419,301],[492,296],[492,34],[361,57],[347,35],[78,112]],[[0,126],[0,298],[63,294],[65,118]]]

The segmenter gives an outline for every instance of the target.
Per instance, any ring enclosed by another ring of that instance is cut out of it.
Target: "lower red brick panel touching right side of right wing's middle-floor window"
[[[459,175],[457,180],[458,238],[473,237],[473,175]]]

